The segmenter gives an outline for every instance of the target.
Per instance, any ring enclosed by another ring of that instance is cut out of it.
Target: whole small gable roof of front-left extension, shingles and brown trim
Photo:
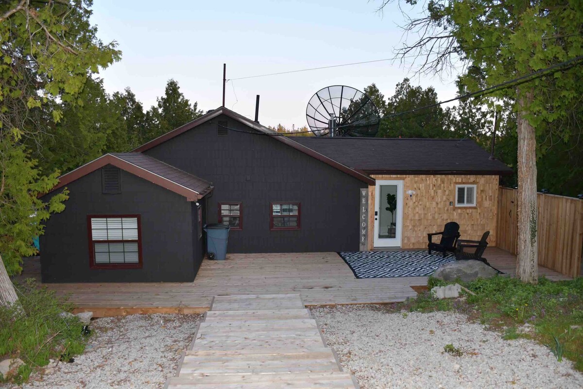
[[[59,183],[47,193],[108,164],[182,195],[188,201],[201,199],[213,190],[212,184],[208,181],[142,153],[108,153],[62,175],[59,177]]]

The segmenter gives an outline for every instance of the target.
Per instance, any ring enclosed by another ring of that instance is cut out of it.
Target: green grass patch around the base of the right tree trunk
[[[429,288],[449,283],[429,278]],[[539,278],[538,285],[522,283],[507,276],[494,276],[464,283],[475,296],[465,294],[465,299],[438,300],[429,292],[399,306],[409,311],[459,311],[470,319],[503,330],[504,339],[533,338],[546,345],[557,360],[567,358],[575,369],[583,372],[583,278],[573,281],[553,282]],[[462,292],[463,293],[463,292]],[[529,334],[519,334],[517,327],[530,324]]]

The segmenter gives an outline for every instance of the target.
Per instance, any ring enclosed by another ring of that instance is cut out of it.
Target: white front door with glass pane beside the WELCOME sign
[[[401,247],[403,181],[377,180],[374,202],[374,247]]]

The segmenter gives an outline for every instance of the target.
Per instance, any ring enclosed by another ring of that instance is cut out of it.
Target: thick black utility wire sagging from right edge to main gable
[[[562,68],[562,69],[560,69],[560,71],[566,71],[567,69],[570,69],[570,68],[573,68],[574,66],[579,65],[579,62],[582,62],[582,61],[583,61],[583,55],[579,55],[578,57],[568,59],[567,61],[560,62],[559,64],[554,64],[554,65],[549,66],[547,68],[540,69],[536,72],[532,72],[532,73],[511,79],[511,80],[508,80],[508,81],[505,81],[505,82],[502,82],[502,83],[499,83],[499,84],[496,84],[496,85],[493,85],[493,86],[490,86],[490,87],[487,87],[484,89],[476,90],[476,92],[466,93],[466,94],[463,94],[462,96],[457,96],[457,97],[454,97],[454,98],[449,99],[449,100],[438,101],[437,103],[429,104],[429,105],[423,106],[423,107],[413,108],[412,110],[397,112],[394,114],[390,114],[390,115],[381,117],[378,120],[381,121],[381,120],[393,118],[396,116],[415,113],[417,111],[425,110],[427,108],[434,108],[434,107],[441,106],[441,104],[451,103],[451,101],[468,99],[469,97],[484,96],[486,94],[496,92],[497,90],[508,89],[510,87],[522,85],[523,83],[541,78],[541,77],[545,76],[546,73],[548,73],[549,71],[554,71],[557,68]],[[342,65],[338,65],[338,66],[342,66]],[[220,125],[220,124],[219,124],[219,126],[222,128],[230,129],[231,131],[235,131],[235,132],[245,132],[247,134],[268,135],[268,136],[290,136],[290,135],[308,134],[310,132],[322,131],[322,129],[312,129],[312,130],[308,130],[308,131],[288,132],[286,134],[282,134],[282,133],[278,133],[278,132],[274,132],[273,134],[266,134],[265,132],[254,132],[254,131],[245,131],[245,130],[240,130],[240,129],[235,129],[235,128],[229,128],[229,127],[225,127],[225,126]],[[355,124],[339,125],[339,126],[335,127],[335,129],[343,128],[343,127],[355,127]],[[364,127],[364,125],[363,125],[363,127]]]

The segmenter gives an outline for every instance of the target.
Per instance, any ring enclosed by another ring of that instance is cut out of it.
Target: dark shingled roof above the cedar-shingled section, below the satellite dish
[[[294,141],[368,174],[511,174],[471,139],[295,136]]]

